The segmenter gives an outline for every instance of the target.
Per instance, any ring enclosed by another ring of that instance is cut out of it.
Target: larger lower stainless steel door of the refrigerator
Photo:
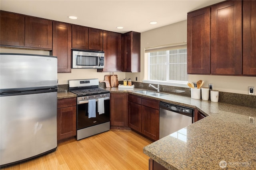
[[[0,97],[0,163],[57,147],[57,92]]]

